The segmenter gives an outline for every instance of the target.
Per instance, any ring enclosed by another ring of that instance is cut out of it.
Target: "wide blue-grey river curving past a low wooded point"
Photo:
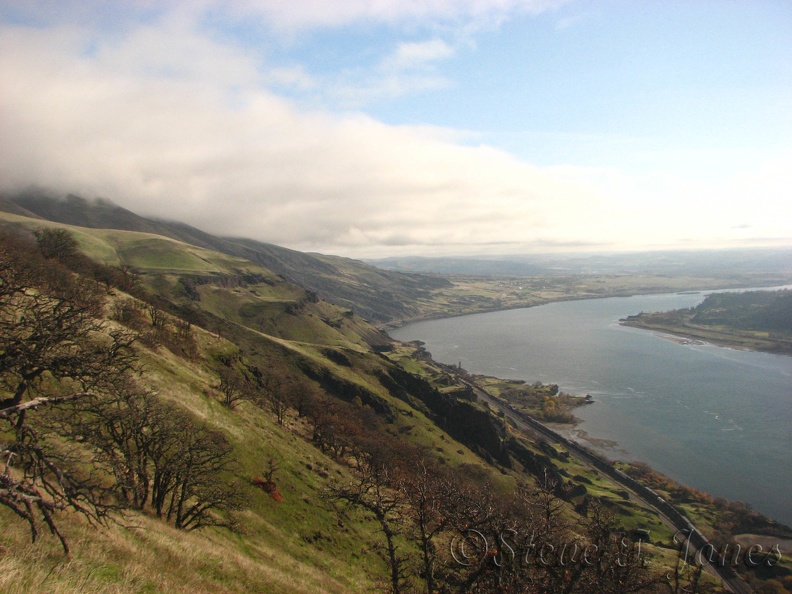
[[[792,357],[679,344],[618,323],[703,298],[566,301],[389,333],[421,340],[435,360],[461,361],[470,373],[591,394],[596,402],[575,410],[583,422],[571,437],[792,525]]]

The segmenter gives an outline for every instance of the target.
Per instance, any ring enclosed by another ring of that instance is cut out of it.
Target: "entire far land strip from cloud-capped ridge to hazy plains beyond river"
[[[152,233],[258,264],[334,305],[387,327],[411,320],[532,307],[566,299],[792,282],[788,251],[559,255],[520,257],[505,263],[461,260],[440,275],[387,270],[323,254],[307,254],[250,239],[221,238],[189,225],[141,217],[108,200],[88,201],[28,190],[0,200],[0,212],[94,229]],[[401,260],[396,260],[396,263]],[[408,266],[415,261],[406,260]],[[469,266],[473,262],[474,266]],[[527,266],[523,264],[528,263]],[[378,262],[387,267],[393,262]],[[466,271],[461,274],[461,271]]]

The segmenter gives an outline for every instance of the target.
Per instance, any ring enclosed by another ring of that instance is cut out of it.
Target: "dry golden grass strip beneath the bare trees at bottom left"
[[[256,523],[256,518],[245,518]],[[372,584],[362,572],[333,577],[262,539],[255,542],[226,530],[178,531],[163,522],[130,515],[131,527],[101,532],[73,515],[63,516],[72,556],[42,535],[31,543],[25,526],[0,511],[0,592],[365,592]],[[323,561],[323,563],[322,563]]]

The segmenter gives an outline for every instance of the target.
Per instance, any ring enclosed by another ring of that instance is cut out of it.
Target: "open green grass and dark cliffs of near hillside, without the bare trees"
[[[493,494],[513,493],[517,485],[535,485],[549,474],[563,495],[560,513],[573,526],[583,525],[584,510],[597,500],[622,527],[651,529],[653,543],[647,548],[656,562],[673,562],[672,531],[634,495],[562,446],[518,430],[421,349],[393,343],[355,312],[279,273],[149,231],[67,226],[12,213],[1,214],[0,222],[28,232],[66,228],[93,259],[138,271],[145,291],[133,297],[113,290],[108,318],[121,302],[147,300],[136,302],[141,381],[226,436],[243,502],[240,511],[229,512],[235,530],[188,533],[130,512],[96,532],[80,516],[65,514],[70,558],[50,535],[31,544],[24,524],[0,507],[0,591],[383,590],[388,568],[376,522],[355,509],[339,516],[326,497],[329,487],[352,479],[350,460],[315,445],[310,423],[296,405],[282,419],[248,400],[224,406],[217,365],[232,357],[240,367],[288,382],[292,395],[320,395],[328,406],[340,400],[368,407],[382,422],[383,434],[420,448],[464,480],[490,485]],[[316,258],[324,260],[335,262]],[[346,267],[348,278],[339,282],[350,286],[366,271],[354,261],[324,263],[327,274]],[[150,338],[149,307],[174,325],[179,317],[190,321],[191,356]],[[111,328],[117,323],[107,321]],[[269,460],[278,467],[280,501],[252,482]],[[412,545],[403,546],[410,551]]]

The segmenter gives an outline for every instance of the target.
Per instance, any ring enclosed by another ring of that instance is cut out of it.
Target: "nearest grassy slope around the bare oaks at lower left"
[[[230,343],[196,330],[201,361]],[[244,507],[235,512],[235,531],[184,532],[148,515],[127,512],[119,523],[97,533],[77,514],[63,518],[73,555],[57,541],[30,543],[17,519],[3,510],[0,589],[3,592],[368,592],[375,588],[381,561],[373,553],[372,529],[358,517],[339,529],[333,506],[323,499],[330,478],[349,471],[308,446],[298,430],[277,426],[264,411],[243,403],[223,407],[216,381],[202,362],[190,362],[165,349],[140,349],[146,384],[163,399],[222,430],[234,446],[236,475]],[[280,465],[280,502],[250,479],[265,461]],[[318,536],[317,536],[318,535]],[[368,558],[370,573],[350,559]]]

